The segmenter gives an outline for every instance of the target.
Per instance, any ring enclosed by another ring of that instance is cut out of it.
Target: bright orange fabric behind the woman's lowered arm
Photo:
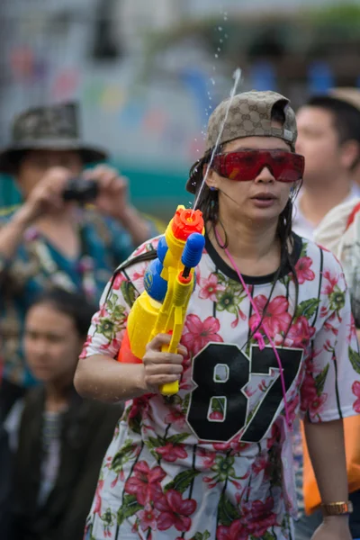
[[[347,479],[349,492],[360,490],[360,416],[344,419],[345,447],[347,451]],[[306,513],[320,506],[320,492],[312,469],[302,425],[303,443],[303,495]],[[331,474],[331,472],[329,472]]]

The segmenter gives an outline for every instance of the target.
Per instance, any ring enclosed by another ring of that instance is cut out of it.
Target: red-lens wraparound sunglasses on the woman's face
[[[275,180],[297,182],[302,179],[304,165],[303,156],[285,150],[241,150],[218,154],[213,158],[211,168],[230,180],[247,182],[255,180],[267,166]]]

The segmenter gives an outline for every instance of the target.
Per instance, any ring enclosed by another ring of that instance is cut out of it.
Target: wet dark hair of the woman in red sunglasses
[[[277,121],[277,122],[281,123],[282,125],[284,124],[284,121],[285,121],[284,104],[285,103],[286,102],[284,102],[284,103],[282,103],[282,102],[275,103],[275,105],[273,107],[273,110],[271,112],[271,120],[272,121]],[[217,153],[220,154],[222,152],[222,150],[223,150],[223,145],[220,146]],[[215,225],[219,224],[221,229],[223,229],[223,231],[224,231],[224,235],[225,235],[225,243],[224,243],[224,245],[220,245],[219,240],[217,238],[217,235],[215,235],[215,238],[216,238],[216,241],[218,242],[218,245],[220,246],[220,248],[223,249],[224,247],[228,247],[228,238],[227,238],[226,230],[225,230],[224,226],[222,225],[222,223],[220,221],[220,216],[219,216],[219,192],[218,191],[211,191],[211,189],[206,184],[203,185],[203,187],[202,187],[202,167],[210,162],[211,151],[212,151],[212,149],[209,150],[202,157],[202,159],[199,160],[199,162],[197,162],[197,163],[195,163],[193,165],[193,167],[190,169],[190,176],[193,175],[193,178],[197,180],[196,181],[196,186],[197,187],[196,187],[195,197],[197,197],[198,194],[200,193],[200,190],[202,190],[201,194],[200,194],[199,202],[197,204],[197,208],[202,211],[202,215],[203,215],[203,219],[204,219],[205,223],[210,222],[211,223],[211,226],[210,226],[211,229],[213,229],[215,227]],[[291,272],[293,274],[293,281],[294,281],[294,285],[295,285],[295,310],[296,310],[296,306],[297,306],[298,299],[299,299],[299,280],[298,280],[298,277],[297,277],[297,274],[296,274],[296,269],[295,269],[296,262],[295,262],[295,257],[293,255],[293,201],[295,200],[295,198],[296,198],[297,194],[299,193],[299,190],[300,190],[301,187],[302,187],[302,183],[300,182],[298,185],[296,185],[296,187],[293,188],[293,192],[291,193],[291,196],[290,196],[288,202],[286,202],[286,206],[285,206],[284,210],[279,215],[276,234],[277,234],[277,237],[280,240],[280,247],[281,247],[280,266],[279,266],[279,268],[277,269],[277,271],[275,273],[274,282],[273,282],[273,285],[272,285],[271,292],[270,292],[270,294],[268,296],[266,306],[265,306],[264,311],[263,311],[262,320],[264,319],[264,317],[266,315],[266,308],[267,308],[269,302],[271,301],[271,297],[272,297],[272,294],[273,294],[274,289],[275,289],[275,284],[278,281],[279,276],[283,275],[284,268],[287,268],[287,267],[288,268],[290,267]],[[208,230],[208,232],[209,232],[209,230]],[[291,247],[291,249],[289,249],[289,247]],[[294,313],[295,313],[295,310],[294,310]],[[293,319],[294,319],[294,315],[293,315],[293,318],[292,318],[292,320],[291,320],[291,322],[289,324],[289,327],[288,327],[285,335],[287,334],[287,332],[291,328],[291,326],[293,324]],[[262,320],[261,320],[261,322],[262,322]],[[261,326],[261,322],[259,323],[257,329]],[[257,329],[254,330],[252,335],[254,335],[254,333],[257,331]]]

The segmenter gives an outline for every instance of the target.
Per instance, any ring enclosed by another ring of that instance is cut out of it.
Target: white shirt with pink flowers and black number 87
[[[337,259],[294,236],[290,268],[244,276],[284,368],[291,423],[356,413],[360,356]],[[134,256],[157,247],[157,238]],[[148,263],[120,271],[103,293],[83,351],[115,358]],[[275,354],[236,272],[207,239],[182,342],[180,391],[130,400],[103,460],[86,531],[92,540],[293,538],[291,430]],[[267,304],[267,306],[266,306]]]

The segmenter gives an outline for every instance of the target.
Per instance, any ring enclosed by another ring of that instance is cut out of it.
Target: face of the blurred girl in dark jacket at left
[[[25,320],[24,349],[32,374],[43,383],[69,383],[83,339],[74,320],[50,304],[36,304]]]

